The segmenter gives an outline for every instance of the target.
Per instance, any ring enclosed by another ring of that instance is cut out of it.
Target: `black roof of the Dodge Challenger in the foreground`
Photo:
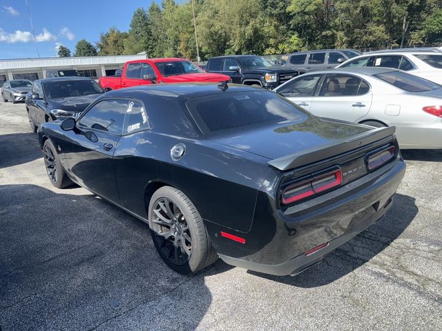
[[[170,84],[152,84],[144,86],[134,86],[132,88],[121,88],[106,92],[103,97],[128,97],[142,99],[147,95],[155,95],[158,97],[184,97],[185,99],[193,99],[198,97],[206,97],[215,94],[227,94],[232,92],[256,92],[261,88],[255,88],[246,85],[228,83],[227,89],[222,90],[220,83],[170,83]]]

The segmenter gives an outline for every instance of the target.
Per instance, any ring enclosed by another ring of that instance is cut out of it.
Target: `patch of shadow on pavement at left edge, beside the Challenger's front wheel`
[[[37,133],[0,135],[0,169],[28,163],[43,157]]]

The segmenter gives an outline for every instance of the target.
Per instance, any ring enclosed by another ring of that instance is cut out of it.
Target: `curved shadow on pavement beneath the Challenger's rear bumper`
[[[320,263],[294,277],[248,272],[300,288],[315,288],[332,283],[367,263],[398,238],[416,217],[419,209],[414,201],[412,197],[396,193],[392,208],[383,219],[327,254]]]

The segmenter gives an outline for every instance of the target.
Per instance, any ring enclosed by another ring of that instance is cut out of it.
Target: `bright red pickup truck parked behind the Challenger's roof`
[[[108,91],[155,83],[229,80],[225,74],[204,72],[186,59],[145,59],[126,62],[121,77],[99,77],[99,85]]]

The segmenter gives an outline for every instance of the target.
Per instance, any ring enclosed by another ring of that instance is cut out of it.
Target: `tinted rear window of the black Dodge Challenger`
[[[203,134],[299,121],[307,114],[273,92],[232,92],[187,101],[187,108]]]

